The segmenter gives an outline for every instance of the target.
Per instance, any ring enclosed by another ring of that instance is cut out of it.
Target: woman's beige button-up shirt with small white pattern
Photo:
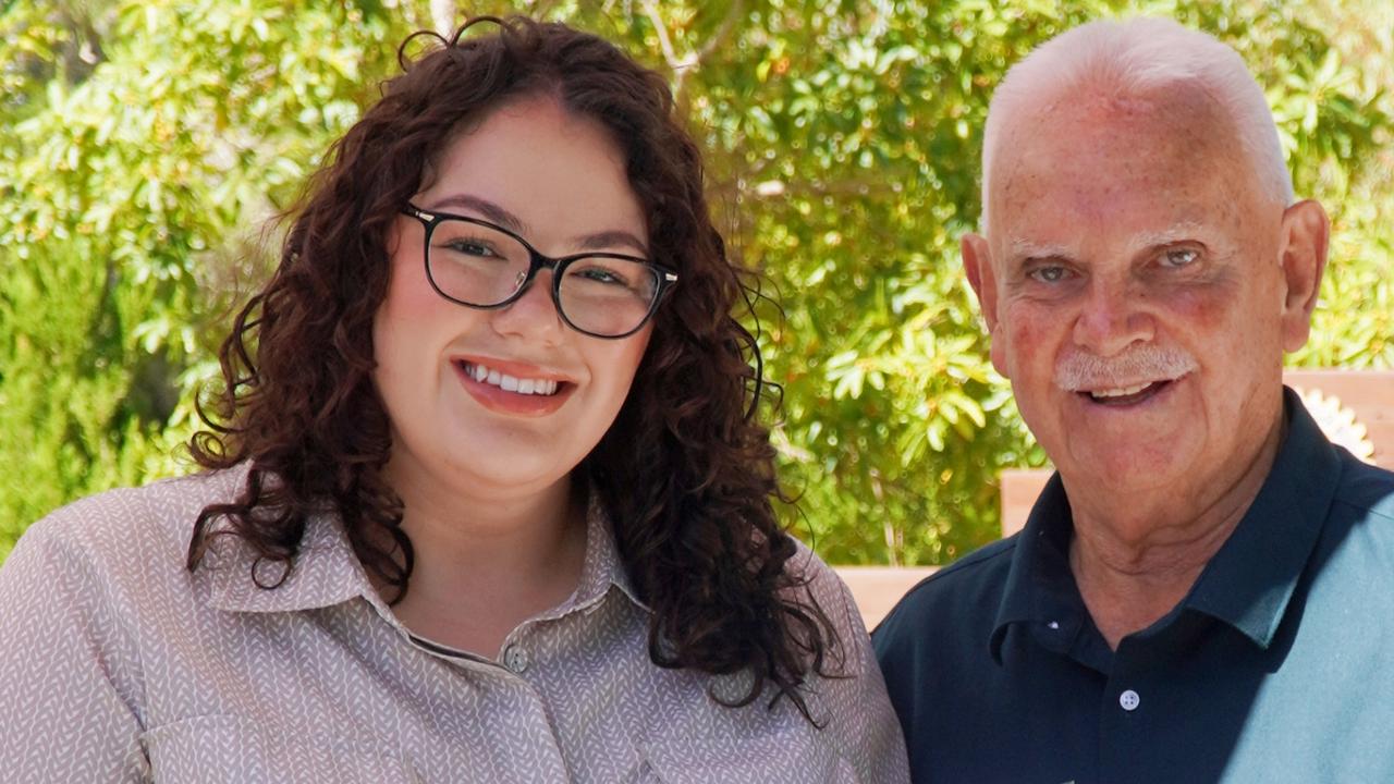
[[[846,640],[842,679],[722,707],[721,678],[655,667],[648,612],[592,512],[576,593],[513,629],[500,661],[414,639],[333,518],[290,578],[241,540],[184,569],[192,522],[244,470],[79,501],[0,569],[6,783],[907,781],[905,744],[846,587],[800,548]]]

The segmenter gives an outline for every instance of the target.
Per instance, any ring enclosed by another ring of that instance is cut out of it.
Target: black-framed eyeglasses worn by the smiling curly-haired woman
[[[493,310],[517,301],[539,269],[552,271],[552,303],[572,329],[594,338],[626,338],[658,310],[677,275],[647,258],[615,252],[542,255],[513,232],[463,215],[404,215],[427,227],[427,280],[438,294],[466,307]]]

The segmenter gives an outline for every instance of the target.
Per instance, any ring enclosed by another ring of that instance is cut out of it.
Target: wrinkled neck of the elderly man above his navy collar
[[[1273,469],[1285,420],[1221,481],[1151,492],[1078,492],[1065,478],[1075,536],[1069,566],[1110,649],[1171,612],[1249,511]],[[1107,495],[1107,497],[1101,497]]]

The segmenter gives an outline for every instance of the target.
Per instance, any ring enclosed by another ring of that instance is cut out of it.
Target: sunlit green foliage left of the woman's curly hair
[[[217,317],[254,273],[236,254],[408,29],[369,3],[321,6],[0,17],[0,557],[60,504],[181,469]]]

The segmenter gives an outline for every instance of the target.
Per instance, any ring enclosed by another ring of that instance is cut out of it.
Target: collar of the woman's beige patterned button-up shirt
[[[219,483],[217,501],[229,501],[241,491],[247,470],[244,465],[226,472]],[[648,610],[625,571],[609,515],[597,492],[591,492],[590,498],[581,579],[572,597],[548,615],[560,617],[597,604],[611,586],[618,587],[640,608]],[[229,532],[230,525],[226,519],[219,519],[209,529],[210,533]],[[381,604],[343,525],[332,513],[312,515],[305,522],[294,568],[275,589],[261,587],[276,585],[282,573],[283,566],[277,562],[258,562],[256,551],[241,537],[215,534],[209,537],[208,552],[194,573],[194,583],[209,607],[230,612],[296,612],[330,607],[360,596],[375,605]]]

